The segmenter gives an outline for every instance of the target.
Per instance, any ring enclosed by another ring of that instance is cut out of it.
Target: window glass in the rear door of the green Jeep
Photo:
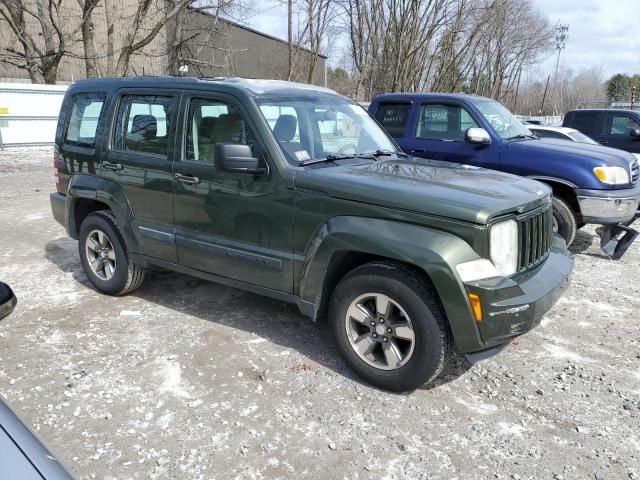
[[[123,95],[118,108],[114,148],[166,156],[173,98]]]

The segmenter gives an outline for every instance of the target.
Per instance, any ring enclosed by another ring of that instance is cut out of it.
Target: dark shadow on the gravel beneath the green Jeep
[[[82,269],[76,241],[69,238],[50,241],[45,247],[45,258],[93,289]],[[342,361],[326,322],[312,322],[295,305],[159,269],[149,270],[143,285],[131,295],[176,313],[252,333],[371,388]],[[428,389],[449,383],[466,372],[458,367],[449,370]]]

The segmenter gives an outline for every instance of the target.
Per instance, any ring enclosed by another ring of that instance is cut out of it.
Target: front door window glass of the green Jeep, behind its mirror
[[[186,160],[213,164],[216,143],[240,143],[256,151],[255,142],[233,105],[220,100],[194,98],[187,117]]]

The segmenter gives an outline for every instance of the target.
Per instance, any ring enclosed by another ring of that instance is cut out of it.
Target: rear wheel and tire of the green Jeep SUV
[[[89,281],[107,295],[124,295],[138,288],[144,270],[129,257],[115,217],[106,210],[94,212],[80,226],[78,248]]]

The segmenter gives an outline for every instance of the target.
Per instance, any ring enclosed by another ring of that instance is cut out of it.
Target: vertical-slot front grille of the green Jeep
[[[551,250],[553,239],[553,211],[549,205],[543,211],[518,218],[518,272],[542,262]]]

